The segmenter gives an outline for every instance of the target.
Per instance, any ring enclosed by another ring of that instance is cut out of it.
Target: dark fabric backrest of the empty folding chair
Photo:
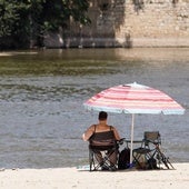
[[[143,133],[145,146],[149,143],[161,145],[161,136],[159,131],[146,131]]]

